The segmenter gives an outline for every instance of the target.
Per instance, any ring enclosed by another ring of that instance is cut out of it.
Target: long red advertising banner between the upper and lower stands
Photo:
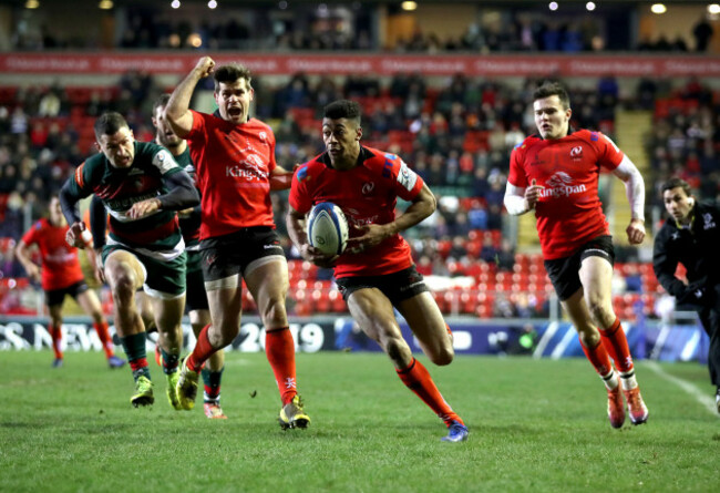
[[[120,74],[130,70],[152,74],[184,74],[203,53],[1,53],[0,74]],[[308,74],[469,76],[720,76],[720,58],[701,55],[411,55],[411,54],[270,54],[210,53],[217,63],[243,62],[264,75]]]

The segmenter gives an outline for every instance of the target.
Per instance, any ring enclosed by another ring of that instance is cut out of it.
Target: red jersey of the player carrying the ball
[[[290,205],[300,214],[315,204],[331,202],[342,209],[350,226],[349,237],[362,236],[352,225],[388,224],[395,219],[398,197],[414,199],[423,181],[397,155],[360,147],[358,165],[335,170],[327,153],[302,165],[292,176]],[[382,276],[412,266],[410,245],[393,235],[369,250],[340,255],[335,265],[337,278]]]

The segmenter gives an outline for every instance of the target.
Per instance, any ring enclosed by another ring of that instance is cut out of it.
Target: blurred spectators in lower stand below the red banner
[[[362,104],[364,145],[401,155],[439,195],[439,214],[407,232],[424,275],[477,277],[483,269],[479,265],[490,266],[483,271],[493,276],[517,269],[522,256],[502,239],[502,201],[510,153],[524,135],[535,133],[526,102],[536,81],[513,88],[457,74],[438,88],[416,74],[398,74],[387,82],[357,76],[340,82],[296,74],[276,86],[261,79],[254,83],[261,86],[254,114],[275,127],[277,160],[285,168],[322,151],[319,109],[339,97]],[[45,214],[49,197],[94,152],[94,119],[106,110],[119,111],[138,141],[151,141],[152,101],[168,89],[137,72],[125,74],[114,88],[0,88],[3,277],[24,275],[10,246]],[[720,197],[720,165],[714,157],[720,111],[713,93],[701,82],[690,80],[671,89],[640,80],[628,101],[620,100],[614,78],[599,79],[595,89],[574,88],[572,92],[573,125],[608,135],[613,135],[615,111],[620,105],[655,109],[656,123],[646,143],[654,175],[645,176],[649,206],[661,204],[658,184],[670,175],[686,178],[703,198]],[[286,237],[287,196],[274,194],[274,205],[278,230]],[[284,242],[288,258],[298,259],[290,243]],[[618,261],[634,258],[631,248],[618,248]],[[309,288],[316,280],[328,283],[330,273],[316,269],[311,277],[301,277]],[[631,279],[624,284],[634,286]],[[448,302],[452,310],[461,300],[453,297]],[[542,296],[516,295],[512,300],[498,296],[485,315],[523,315],[528,305],[535,312],[547,310]]]

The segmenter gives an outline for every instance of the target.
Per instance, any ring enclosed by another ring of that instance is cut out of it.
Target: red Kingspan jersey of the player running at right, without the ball
[[[600,170],[615,170],[623,157],[613,141],[588,130],[563,138],[533,135],[515,146],[507,181],[526,188],[535,179],[545,187],[535,216],[546,260],[569,257],[590,239],[610,234],[597,187]]]

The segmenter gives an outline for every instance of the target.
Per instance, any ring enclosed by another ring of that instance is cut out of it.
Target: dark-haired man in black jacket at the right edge
[[[720,207],[697,202],[680,178],[662,185],[662,201],[670,217],[655,238],[652,268],[679,304],[698,311],[710,336],[708,367],[720,412]],[[675,276],[678,264],[687,269],[687,285]]]

